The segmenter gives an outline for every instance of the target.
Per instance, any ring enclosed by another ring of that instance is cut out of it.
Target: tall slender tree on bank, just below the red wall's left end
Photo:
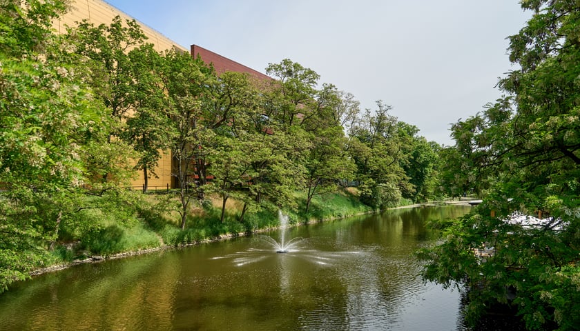
[[[211,152],[215,136],[208,125],[215,118],[207,112],[213,98],[209,86],[215,84],[215,74],[201,59],[172,50],[164,56],[162,79],[169,98],[165,114],[170,119],[167,137],[173,156],[172,176],[179,188],[184,229],[192,194],[203,199],[206,155]]]

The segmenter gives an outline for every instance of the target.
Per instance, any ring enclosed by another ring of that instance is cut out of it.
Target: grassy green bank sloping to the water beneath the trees
[[[296,193],[298,208],[282,210],[289,223],[298,225],[313,221],[326,221],[371,212],[371,208],[358,199],[355,189],[316,196],[305,212],[305,194]],[[226,205],[224,221],[220,221],[221,200],[212,197],[209,203],[191,208],[186,228],[180,228],[180,217],[174,211],[175,197],[167,194],[129,193],[126,205],[108,213],[106,210],[86,210],[81,228],[69,229],[63,225],[54,250],[41,248],[30,252],[37,257],[30,269],[39,270],[50,265],[68,265],[75,261],[92,261],[116,257],[119,254],[162,247],[176,247],[222,237],[235,237],[276,228],[280,225],[279,208],[267,201],[260,208],[247,212],[240,221],[242,203],[230,199]]]

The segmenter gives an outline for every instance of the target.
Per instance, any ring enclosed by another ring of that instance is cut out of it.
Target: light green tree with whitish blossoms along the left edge
[[[104,106],[81,68],[60,61],[67,45],[50,33],[64,8],[34,0],[0,6],[0,292],[54,248],[91,181],[86,156],[108,134]]]

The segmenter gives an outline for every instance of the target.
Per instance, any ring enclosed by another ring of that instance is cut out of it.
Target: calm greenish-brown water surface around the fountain
[[[429,219],[469,207],[393,210],[104,263],[0,295],[0,330],[466,330],[460,294],[423,284]],[[280,241],[281,233],[268,233]]]

